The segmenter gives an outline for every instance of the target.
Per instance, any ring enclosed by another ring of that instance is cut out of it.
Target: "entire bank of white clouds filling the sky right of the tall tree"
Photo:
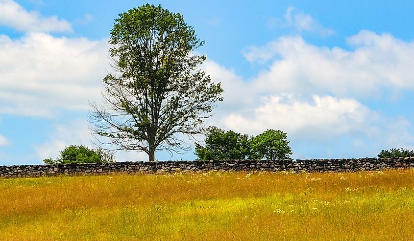
[[[298,158],[375,156],[381,149],[412,147],[412,122],[362,103],[403,101],[395,93],[414,89],[414,43],[366,30],[347,42],[349,49],[283,36],[252,46],[246,59],[265,64],[248,80],[207,63],[206,72],[225,90],[209,124],[250,135],[286,131]]]

